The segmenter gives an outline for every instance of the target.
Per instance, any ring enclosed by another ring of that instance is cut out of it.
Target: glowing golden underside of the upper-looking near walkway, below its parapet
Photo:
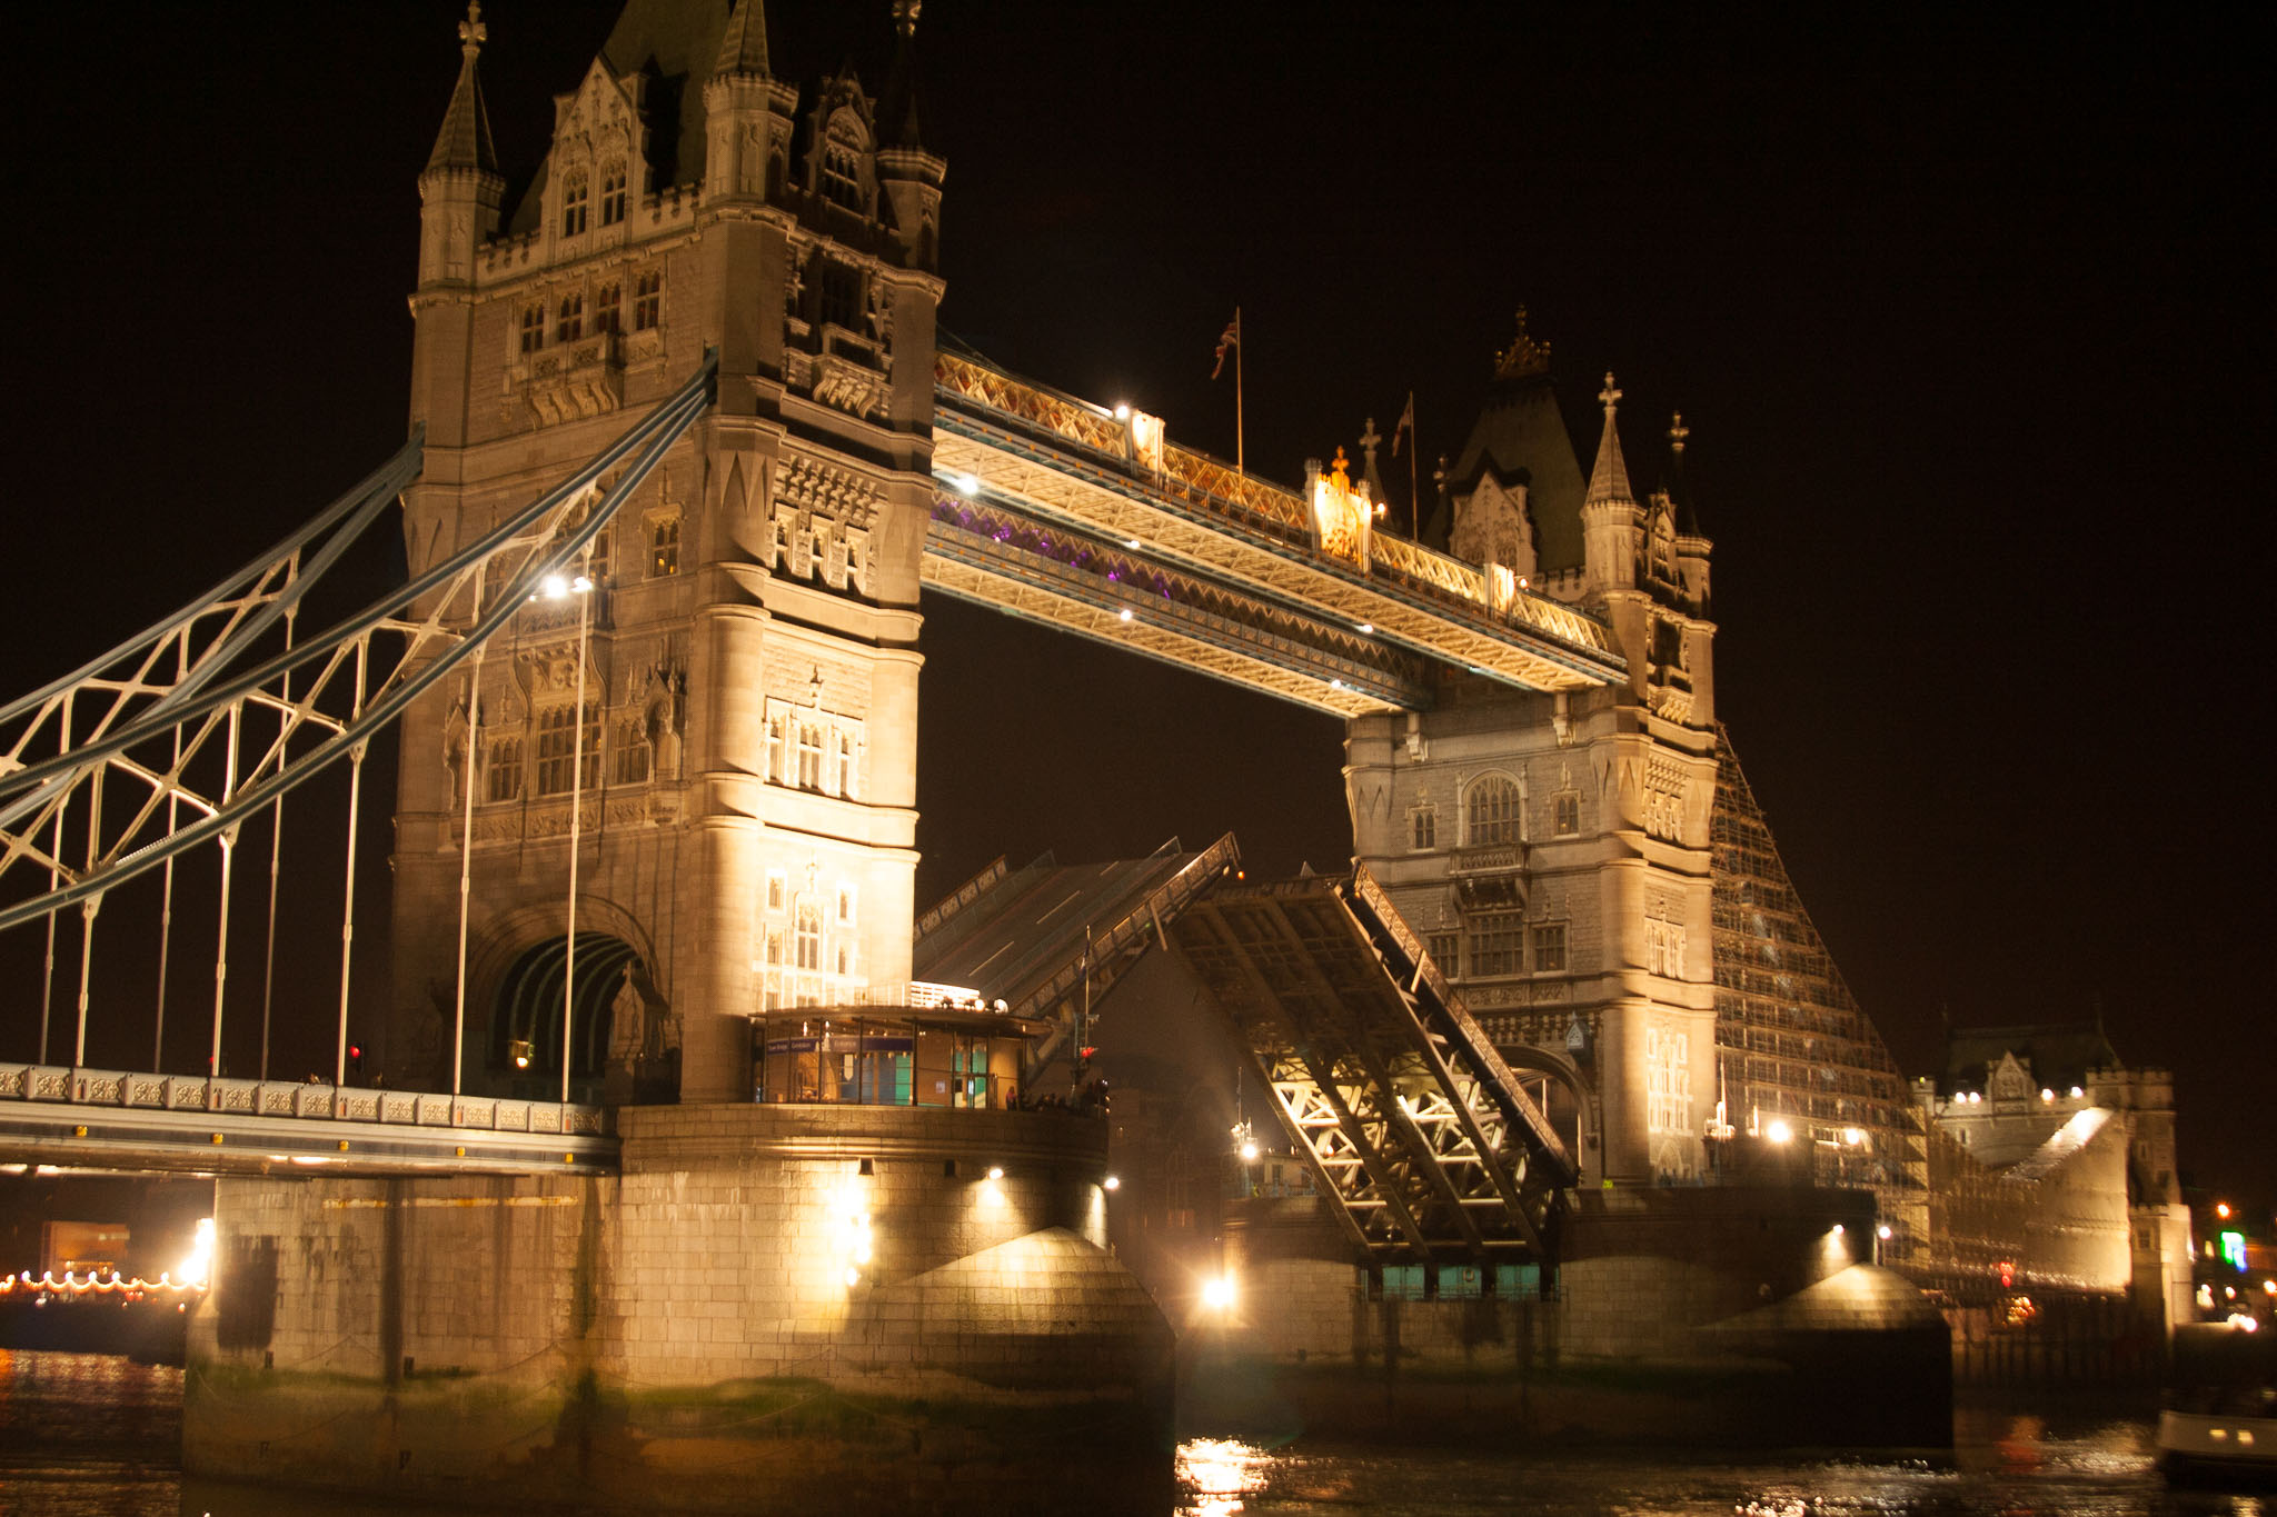
[[[1054,453],[984,418],[936,409],[934,469],[970,475],[995,498],[1079,525],[1113,541],[1141,541],[1152,562],[1202,573],[1300,607],[1314,616],[1368,625],[1423,657],[1475,669],[1523,689],[1585,689],[1624,675],[1605,630],[1567,612],[1560,625],[1587,644],[1512,625],[1482,605],[1441,603],[1334,564],[1309,546],[1205,519],[1138,478]]]

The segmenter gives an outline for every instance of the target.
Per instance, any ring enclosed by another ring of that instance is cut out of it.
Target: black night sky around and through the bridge
[[[613,11],[487,7],[512,171]],[[886,11],[776,0],[779,71],[874,84]],[[9,691],[401,439],[458,16],[16,23]],[[2099,1001],[2177,1071],[2186,1167],[2270,1203],[2270,36],[2231,16],[934,0],[943,323],[1230,455],[1241,302],[1248,455],[1293,482],[1409,389],[1457,450],[1530,307],[1585,469],[1605,368],[1639,475],[1685,412],[1721,714],[1899,1060],[1940,1005]],[[1337,723],[927,610],[920,894],[1227,828],[1346,860]]]

